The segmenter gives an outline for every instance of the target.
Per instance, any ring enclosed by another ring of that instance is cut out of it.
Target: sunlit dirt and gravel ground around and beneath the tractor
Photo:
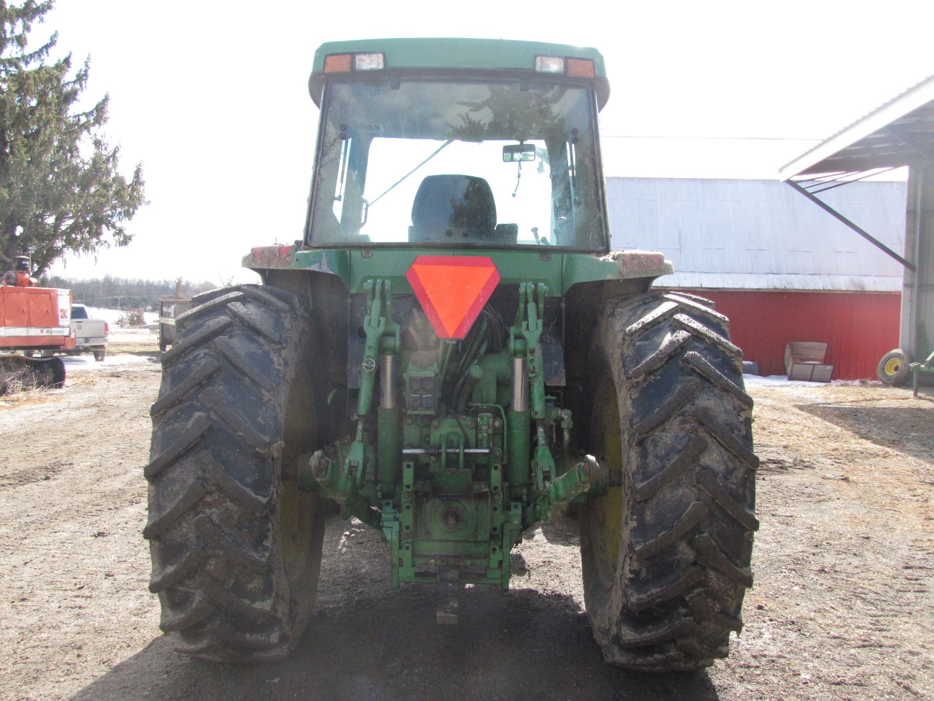
[[[145,344],[144,344],[145,345]],[[576,524],[536,530],[513,589],[389,589],[374,531],[328,524],[318,613],[290,659],[182,657],[147,591],[142,465],[160,370],[146,348],[69,365],[0,402],[3,699],[934,698],[934,404],[879,386],[750,388],[762,457],[755,587],[727,660],[700,674],[601,663]]]

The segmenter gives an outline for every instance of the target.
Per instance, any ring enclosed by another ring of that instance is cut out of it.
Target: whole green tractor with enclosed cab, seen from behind
[[[755,470],[742,353],[713,304],[611,251],[601,54],[486,39],[322,45],[304,238],[177,319],[152,406],[149,589],[179,651],[288,653],[324,517],[387,575],[509,586],[523,532],[576,514],[604,659],[690,670],[742,627]]]

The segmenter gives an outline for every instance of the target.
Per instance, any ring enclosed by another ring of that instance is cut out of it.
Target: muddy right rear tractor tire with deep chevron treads
[[[601,313],[590,451],[610,487],[580,527],[587,616],[610,664],[700,669],[743,627],[758,460],[742,359],[727,318],[696,298],[650,293]]]

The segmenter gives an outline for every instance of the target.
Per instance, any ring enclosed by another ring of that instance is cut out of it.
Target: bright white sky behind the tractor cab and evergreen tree
[[[276,7],[278,5],[279,7]],[[275,8],[275,9],[274,9]],[[89,98],[149,206],[133,242],[53,272],[209,279],[302,236],[323,41],[477,36],[593,46],[611,83],[609,176],[771,178],[779,165],[934,74],[931,2],[142,3],[58,0],[39,35],[91,55]]]

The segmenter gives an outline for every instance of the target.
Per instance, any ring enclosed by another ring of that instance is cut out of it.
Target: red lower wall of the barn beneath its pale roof
[[[875,379],[879,359],[899,347],[900,293],[685,292],[714,300],[763,375],[785,375],[788,341],[827,343],[833,379]]]

